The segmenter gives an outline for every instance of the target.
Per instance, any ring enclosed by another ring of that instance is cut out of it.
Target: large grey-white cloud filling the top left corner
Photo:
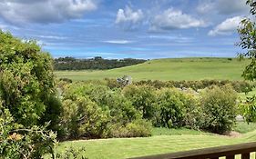
[[[2,0],[0,17],[12,24],[49,24],[82,17],[97,9],[92,0]]]

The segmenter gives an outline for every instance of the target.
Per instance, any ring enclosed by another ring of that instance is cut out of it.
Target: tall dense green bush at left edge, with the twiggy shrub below
[[[0,31],[0,158],[53,153],[60,106],[51,57]]]

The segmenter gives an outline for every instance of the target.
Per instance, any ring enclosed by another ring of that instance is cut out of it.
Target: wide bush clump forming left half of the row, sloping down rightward
[[[132,137],[148,136],[147,122],[121,93],[106,85],[75,83],[63,87],[62,122],[66,137]],[[142,131],[144,129],[144,131]]]

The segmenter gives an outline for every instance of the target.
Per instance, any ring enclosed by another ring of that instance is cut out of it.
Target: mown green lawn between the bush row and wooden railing
[[[240,144],[256,140],[256,131],[241,134],[241,136],[237,137],[201,132],[189,134],[189,130],[187,130],[188,134],[185,130],[181,130],[185,134],[177,134],[178,131],[176,130],[174,134],[157,134],[145,138],[113,138],[64,142],[59,145],[58,151],[64,151],[66,146],[73,146],[74,148],[85,146],[87,150],[86,155],[89,159],[119,159],[226,144]]]

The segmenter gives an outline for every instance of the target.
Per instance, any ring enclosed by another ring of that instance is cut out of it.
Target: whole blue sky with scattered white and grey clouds
[[[245,0],[1,0],[0,28],[54,57],[236,56]]]

